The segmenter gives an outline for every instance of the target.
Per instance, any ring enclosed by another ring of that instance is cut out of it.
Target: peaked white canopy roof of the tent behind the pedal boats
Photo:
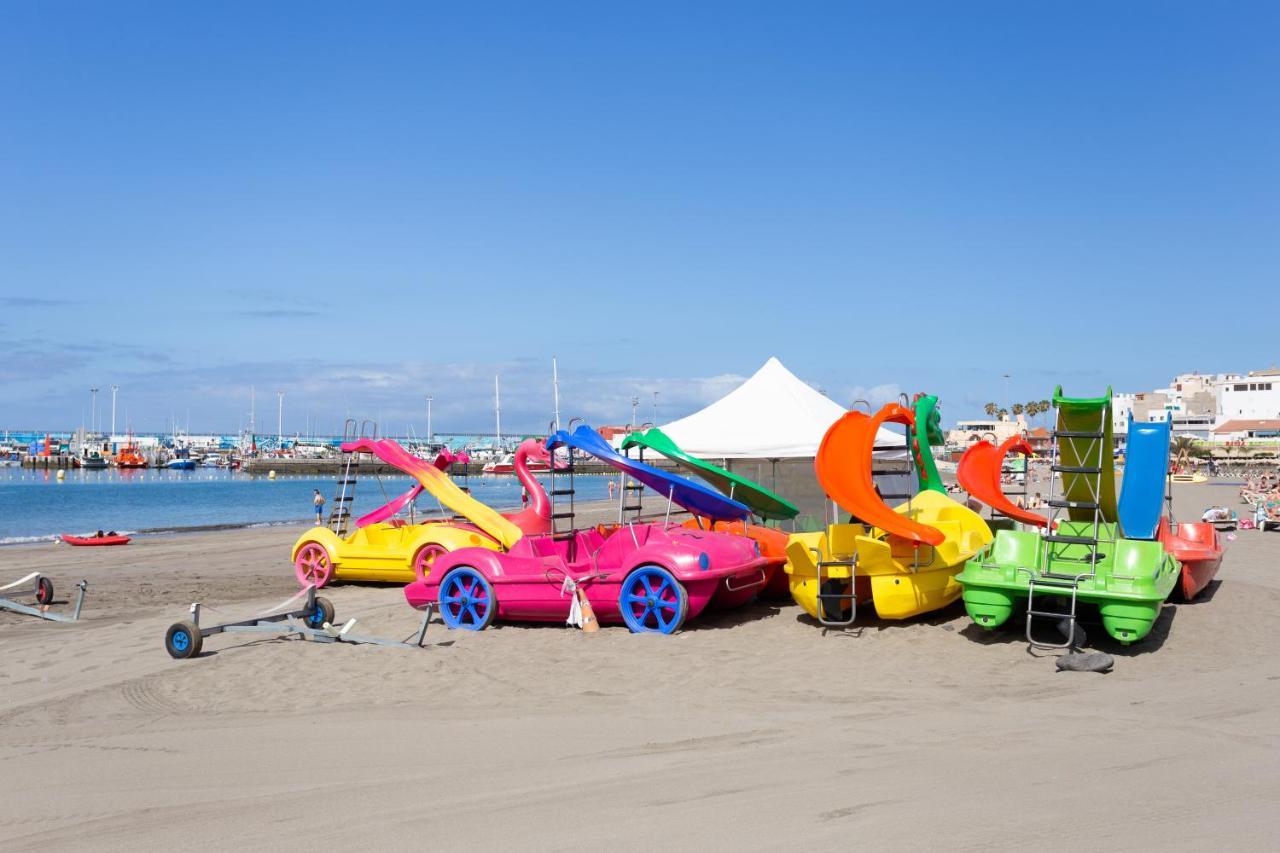
[[[844,414],[840,403],[771,357],[741,386],[662,432],[701,459],[812,459]],[[902,437],[881,428],[876,444],[901,447]]]

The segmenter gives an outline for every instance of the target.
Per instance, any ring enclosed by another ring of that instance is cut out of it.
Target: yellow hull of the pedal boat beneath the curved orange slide
[[[909,510],[904,503],[895,511]],[[991,542],[991,529],[977,512],[938,492],[922,492],[913,498],[910,516],[941,530],[943,542],[916,549],[860,524],[833,524],[826,532],[792,534],[785,566],[791,597],[806,613],[818,617],[820,558],[855,560],[852,571],[847,566],[823,567],[823,579],[832,581],[827,592],[847,594],[850,578],[856,578],[859,603],[869,594],[881,619],[910,619],[957,601],[963,589],[955,578],[965,561]]]

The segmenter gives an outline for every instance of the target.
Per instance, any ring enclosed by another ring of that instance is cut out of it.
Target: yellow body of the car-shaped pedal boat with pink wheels
[[[311,528],[293,544],[289,558],[308,542],[324,546],[333,561],[337,580],[381,580],[412,583],[417,580],[413,561],[428,546],[443,551],[489,548],[500,546],[471,528],[428,523],[412,525],[371,524],[348,537],[339,538],[329,528]]]

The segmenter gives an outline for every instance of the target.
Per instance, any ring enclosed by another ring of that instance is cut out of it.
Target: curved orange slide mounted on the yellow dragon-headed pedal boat
[[[941,530],[895,512],[876,492],[872,455],[876,435],[884,423],[904,424],[910,429],[914,415],[909,409],[890,403],[872,418],[849,411],[832,424],[822,437],[814,459],[818,483],[832,501],[863,523],[910,542],[941,544],[945,538]]]

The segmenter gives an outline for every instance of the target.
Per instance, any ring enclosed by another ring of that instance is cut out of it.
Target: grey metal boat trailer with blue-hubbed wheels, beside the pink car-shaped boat
[[[303,597],[306,599],[301,606],[297,606],[296,602]],[[333,602],[316,596],[315,584],[298,590],[297,594],[257,616],[221,625],[201,626],[200,602],[195,602],[191,606],[191,619],[174,622],[165,631],[164,647],[170,657],[182,660],[200,654],[205,638],[214,634],[280,634],[283,637],[297,634],[302,639],[315,643],[361,643],[392,648],[421,648],[426,639],[428,622],[430,622],[434,611],[433,605],[428,605],[424,611],[422,624],[413,638],[402,642],[384,637],[352,634],[351,629],[356,625],[355,619],[347,620],[344,625],[334,625]]]

